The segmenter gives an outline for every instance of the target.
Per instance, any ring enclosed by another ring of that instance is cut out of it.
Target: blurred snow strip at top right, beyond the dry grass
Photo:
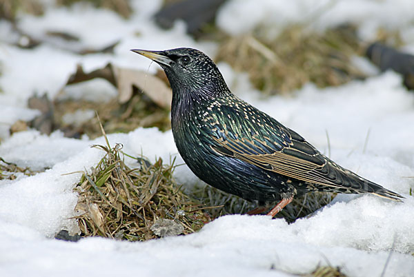
[[[217,25],[232,35],[255,28],[275,35],[288,25],[302,24],[323,31],[346,23],[357,25],[359,37],[375,39],[379,28],[401,30],[406,42],[414,42],[410,0],[230,0],[217,16]],[[243,19],[243,20],[234,20]]]

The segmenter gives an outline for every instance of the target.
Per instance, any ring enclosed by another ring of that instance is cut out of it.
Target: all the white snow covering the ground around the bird
[[[364,39],[377,28],[402,29],[404,48],[412,50],[409,2],[258,4],[232,0],[221,8],[218,23],[231,34],[250,32],[257,26],[276,33],[319,12],[310,28],[323,30],[349,21],[359,25]],[[268,216],[232,215],[217,218],[196,234],[146,243],[53,239],[63,228],[77,230],[75,220],[70,219],[77,203],[72,188],[80,172],[99,162],[104,153],[91,145],[104,140],[68,139],[61,132],[46,136],[35,130],[10,136],[12,123],[29,121],[38,114],[26,107],[28,97],[46,92],[52,99],[95,99],[97,105],[108,101],[117,92],[106,81],[62,88],[78,63],[86,72],[108,62],[157,70],[157,65],[149,66],[131,48],[186,46],[215,53],[214,43],[194,41],[185,34],[182,23],[172,30],[157,28],[150,15],[161,1],[132,3],[136,13],[128,20],[84,5],[51,6],[44,17],[21,15],[19,28],[28,34],[44,38],[49,30],[70,32],[80,38],[79,49],[100,48],[120,39],[114,55],[81,56],[56,40],[32,50],[0,42],[0,157],[33,170],[48,168],[34,176],[20,174],[16,180],[0,181],[0,276],[120,276],[131,272],[137,276],[293,276],[308,274],[318,265],[340,267],[348,276],[380,276],[384,270],[384,276],[413,276],[414,198],[409,192],[414,188],[414,94],[404,88],[401,76],[378,74],[361,57],[355,57],[353,63],[371,75],[366,81],[325,89],[308,84],[290,98],[265,100],[246,74],[234,72],[226,63],[219,68],[230,89],[242,99],[302,134],[340,165],[404,195],[404,203],[371,195],[339,195],[312,217],[290,225]],[[239,18],[243,20],[236,20]],[[0,21],[0,34],[8,32],[10,26]],[[68,114],[67,120],[79,123],[88,116],[91,111],[79,111]],[[144,154],[150,161],[161,157],[166,163],[177,158],[176,164],[183,163],[171,132],[137,128],[128,134],[109,134],[108,139],[112,146],[121,143],[132,156]],[[175,176],[186,187],[200,183],[186,165],[177,167]]]

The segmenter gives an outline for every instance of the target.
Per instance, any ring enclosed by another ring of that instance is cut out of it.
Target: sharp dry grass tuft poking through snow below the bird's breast
[[[106,155],[83,175],[75,187],[79,193],[77,220],[83,236],[148,240],[159,236],[190,234],[210,218],[201,204],[182,192],[172,177],[171,165],[159,159],[130,168],[121,145],[95,145]]]

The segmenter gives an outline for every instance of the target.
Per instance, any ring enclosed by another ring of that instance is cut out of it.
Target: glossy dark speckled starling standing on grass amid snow
[[[295,131],[237,98],[203,52],[131,51],[166,72],[175,144],[190,170],[209,185],[248,201],[279,201],[270,216],[310,191],[402,198],[337,165]]]

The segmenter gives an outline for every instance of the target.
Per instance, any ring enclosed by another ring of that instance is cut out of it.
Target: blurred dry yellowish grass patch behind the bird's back
[[[326,87],[363,78],[350,62],[353,54],[361,53],[350,26],[319,34],[293,25],[271,40],[258,32],[229,37],[221,43],[216,60],[248,72],[250,81],[265,94],[279,94],[308,82]]]

